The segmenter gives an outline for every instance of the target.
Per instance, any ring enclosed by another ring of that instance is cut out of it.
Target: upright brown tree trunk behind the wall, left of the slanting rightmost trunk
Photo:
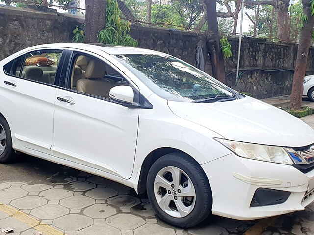
[[[277,36],[281,41],[288,41],[288,8],[290,0],[281,0],[277,5]]]

